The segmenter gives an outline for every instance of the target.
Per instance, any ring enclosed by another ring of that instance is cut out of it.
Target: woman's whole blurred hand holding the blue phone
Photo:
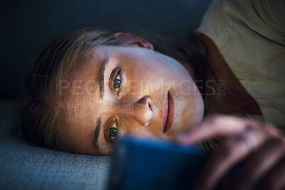
[[[213,137],[222,138],[222,147],[209,157],[194,189],[285,188],[285,138],[273,125],[254,120],[217,115],[181,134],[180,144],[195,144]],[[226,176],[243,161],[234,179]]]

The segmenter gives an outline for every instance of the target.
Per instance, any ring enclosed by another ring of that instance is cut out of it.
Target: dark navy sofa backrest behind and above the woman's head
[[[98,26],[142,28],[161,36],[187,38],[188,31],[199,25],[210,1],[1,0],[0,99],[19,96],[31,60],[58,35]]]

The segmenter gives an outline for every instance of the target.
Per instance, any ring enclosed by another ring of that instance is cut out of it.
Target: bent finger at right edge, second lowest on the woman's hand
[[[284,156],[285,143],[281,138],[269,138],[242,164],[232,189],[252,189],[254,184]]]

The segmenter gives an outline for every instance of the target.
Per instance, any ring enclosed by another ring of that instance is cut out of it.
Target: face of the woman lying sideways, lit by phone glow
[[[100,46],[58,82],[59,132],[82,154],[110,154],[118,137],[171,139],[202,120],[202,97],[188,71],[137,46]]]

